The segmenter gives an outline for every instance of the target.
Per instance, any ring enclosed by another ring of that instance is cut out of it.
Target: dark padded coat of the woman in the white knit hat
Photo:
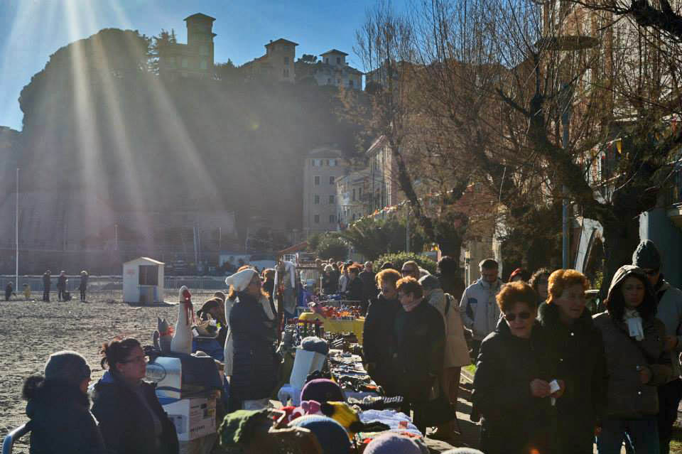
[[[237,296],[229,313],[234,348],[230,391],[240,401],[264,399],[277,383],[274,330],[256,298],[244,292]]]

